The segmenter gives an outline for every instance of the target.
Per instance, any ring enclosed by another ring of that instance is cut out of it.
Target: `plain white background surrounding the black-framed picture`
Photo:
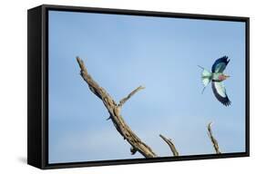
[[[242,173],[255,163],[255,6],[253,0],[24,0],[0,6],[0,173]],[[26,10],[41,4],[81,5],[194,14],[251,17],[251,157],[193,160],[80,169],[40,170],[26,165]]]

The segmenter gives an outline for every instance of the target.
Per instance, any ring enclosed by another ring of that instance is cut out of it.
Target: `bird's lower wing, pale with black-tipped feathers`
[[[229,106],[231,102],[223,84],[221,82],[211,82],[211,87],[218,101],[220,101],[225,106]]]

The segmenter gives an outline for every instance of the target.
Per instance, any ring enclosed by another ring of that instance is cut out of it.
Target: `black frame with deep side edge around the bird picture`
[[[235,21],[246,23],[246,151],[238,153],[159,157],[156,159],[102,160],[70,163],[48,163],[48,10],[89,12],[100,14],[128,14],[175,17],[202,20]],[[178,14],[124,9],[92,8],[64,5],[40,5],[27,11],[27,163],[39,169],[75,168],[164,162],[178,160],[206,160],[250,156],[250,18],[209,14]]]

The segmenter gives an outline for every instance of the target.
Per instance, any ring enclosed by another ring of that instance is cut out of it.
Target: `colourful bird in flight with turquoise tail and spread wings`
[[[211,88],[215,97],[225,106],[229,106],[231,103],[222,83],[222,81],[225,81],[230,77],[230,75],[223,73],[228,63],[230,63],[228,56],[220,57],[215,61],[215,63],[213,63],[211,73],[205,68],[199,66],[203,70],[201,73],[201,81],[204,85],[202,92],[204,92],[206,86],[211,82]]]

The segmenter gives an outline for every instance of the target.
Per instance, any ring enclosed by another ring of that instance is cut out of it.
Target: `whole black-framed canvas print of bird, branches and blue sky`
[[[27,163],[249,156],[249,18],[28,10]]]

